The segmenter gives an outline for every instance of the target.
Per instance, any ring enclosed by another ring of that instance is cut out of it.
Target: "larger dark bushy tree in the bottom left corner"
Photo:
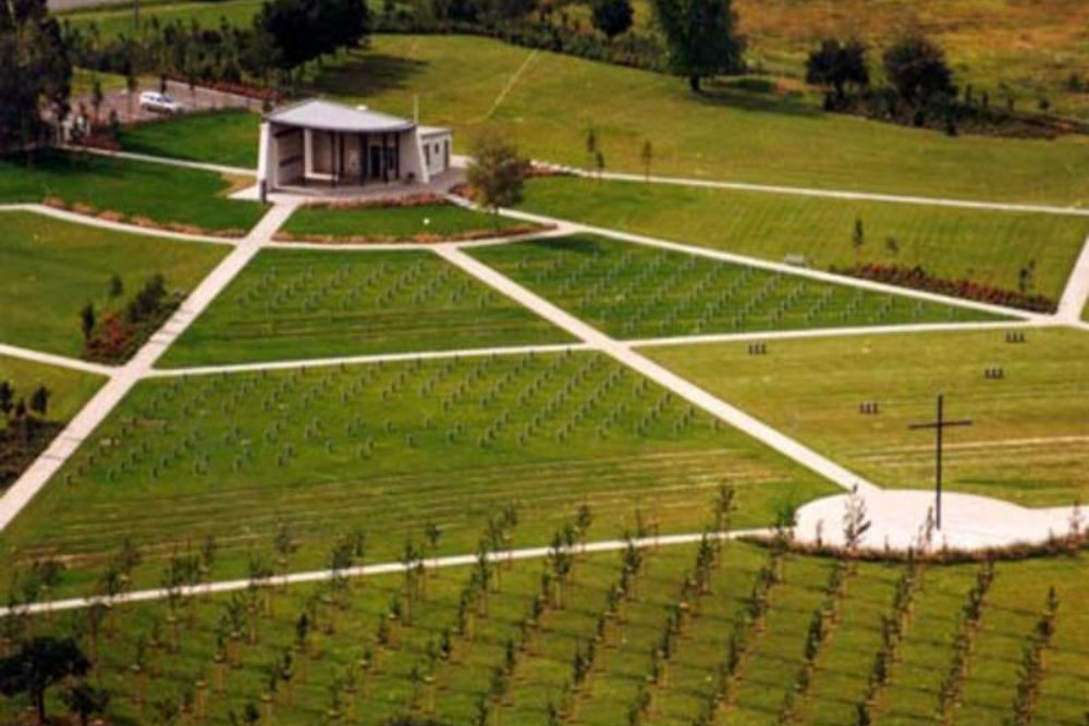
[[[26,693],[38,712],[38,723],[47,724],[46,691],[65,678],[86,675],[89,667],[87,656],[71,638],[40,636],[0,660],[0,693]]]

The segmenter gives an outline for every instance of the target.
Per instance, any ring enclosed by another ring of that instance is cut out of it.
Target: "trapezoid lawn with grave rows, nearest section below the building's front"
[[[162,365],[571,340],[429,251],[267,249],[170,347]]]

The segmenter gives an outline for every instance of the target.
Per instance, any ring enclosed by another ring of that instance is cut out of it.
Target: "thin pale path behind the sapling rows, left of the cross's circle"
[[[711,537],[717,537],[720,540],[732,540],[739,539],[743,537],[770,537],[774,531],[770,529],[735,529],[729,532],[719,532],[717,534],[711,534]],[[626,550],[627,545],[634,544],[639,549],[649,549],[656,546],[676,546],[678,544],[695,544],[700,542],[705,532],[698,533],[684,533],[684,534],[662,534],[660,537],[645,537],[641,539],[633,540],[605,540],[599,542],[587,542],[584,545],[576,545],[571,551],[577,554],[596,554],[601,552],[620,552]],[[551,547],[528,547],[525,550],[502,550],[500,552],[491,552],[488,554],[488,559],[491,562],[509,562],[509,561],[523,561],[523,559],[543,559],[551,554]],[[476,554],[465,554],[465,555],[450,555],[446,557],[432,557],[424,559],[424,567],[426,569],[443,569],[446,567],[467,567],[469,565],[475,565],[477,563]],[[362,565],[358,567],[348,567],[346,569],[337,573],[340,577],[346,578],[357,578],[357,577],[375,577],[377,575],[396,575],[405,571],[405,564],[402,562],[387,562],[376,565]],[[268,580],[268,586],[284,586],[284,585],[304,585],[307,582],[323,582],[331,580],[333,578],[333,570],[331,569],[319,569],[306,573],[291,573],[290,575],[281,575],[272,577]],[[191,595],[201,595],[201,594],[215,594],[221,592],[236,592],[238,590],[247,590],[253,586],[252,580],[221,580],[219,582],[209,582],[206,585],[186,586],[180,588],[178,593],[184,596]],[[121,603],[135,603],[135,602],[148,602],[154,600],[164,600],[170,595],[166,589],[154,589],[154,590],[137,590],[134,592],[127,592],[112,600],[105,598],[73,598],[71,600],[53,600],[49,602],[34,603],[29,606],[12,608],[10,606],[0,607],[0,617],[3,617],[12,612],[34,614],[34,613],[49,613],[54,611],[65,611],[65,610],[77,610],[81,607],[89,607],[97,603],[110,602],[111,604]]]

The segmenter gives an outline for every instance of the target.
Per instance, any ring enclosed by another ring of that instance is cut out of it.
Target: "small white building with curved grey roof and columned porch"
[[[448,128],[321,99],[285,106],[261,121],[261,195],[292,187],[418,182],[450,169]]]

